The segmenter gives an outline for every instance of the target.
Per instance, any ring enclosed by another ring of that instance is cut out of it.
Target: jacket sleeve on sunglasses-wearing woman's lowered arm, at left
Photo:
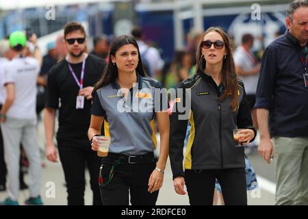
[[[178,89],[185,89],[181,83]],[[186,129],[188,126],[188,117],[183,116],[183,105],[185,105],[186,95],[180,95],[181,92],[176,94],[175,104],[172,109],[172,114],[170,116],[170,164],[173,174],[173,179],[184,175],[183,172],[183,146],[186,136]],[[187,110],[187,109],[186,109]],[[188,109],[190,110],[190,109]],[[186,112],[187,113],[187,112]],[[183,118],[184,117],[184,118]]]

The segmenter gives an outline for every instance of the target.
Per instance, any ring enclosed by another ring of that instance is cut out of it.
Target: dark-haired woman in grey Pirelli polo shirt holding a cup
[[[129,193],[132,205],[155,205],[157,201],[169,142],[168,102],[161,88],[144,73],[135,38],[116,38],[110,62],[92,93],[88,131],[94,151],[99,144],[93,137],[100,135],[103,121],[105,136],[111,138],[99,179],[103,205],[129,205]],[[160,133],[158,160],[153,154],[157,143],[154,119]]]

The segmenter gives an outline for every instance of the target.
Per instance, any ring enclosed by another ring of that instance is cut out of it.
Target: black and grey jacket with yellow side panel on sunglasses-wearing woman
[[[235,112],[231,110],[229,97],[221,102],[218,100],[224,92],[222,83],[217,86],[214,79],[201,69],[182,81],[179,88],[183,88],[185,92],[183,95],[177,92],[170,116],[170,163],[173,179],[184,175],[183,168],[244,168],[244,147],[235,146],[237,142],[233,140],[233,129],[253,129],[255,134],[256,131],[242,81],[238,81],[239,107]],[[189,92],[191,95],[188,95]],[[191,107],[183,112],[181,106],[189,101]],[[188,122],[191,129],[183,160],[183,142]]]

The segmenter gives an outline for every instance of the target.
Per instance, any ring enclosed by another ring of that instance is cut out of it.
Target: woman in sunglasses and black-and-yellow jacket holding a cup
[[[235,146],[233,129],[243,129],[239,142],[243,145],[254,140],[255,129],[244,84],[235,75],[227,34],[218,27],[207,29],[196,60],[196,74],[179,84],[183,95],[178,93],[170,117],[175,192],[185,194],[186,184],[191,205],[212,205],[218,179],[226,205],[247,205],[244,147]],[[182,106],[189,104],[190,112],[183,112]],[[192,128],[183,166],[188,121]]]

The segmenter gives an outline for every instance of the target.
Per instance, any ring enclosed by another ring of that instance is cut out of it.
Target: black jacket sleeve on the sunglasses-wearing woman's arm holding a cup
[[[243,88],[243,99],[240,102],[240,106],[238,109],[238,117],[237,117],[237,123],[239,129],[251,129],[255,133],[255,136],[257,136],[257,130],[255,127],[253,127],[253,119],[251,118],[251,108],[249,107],[247,98],[246,98],[246,92],[244,88],[244,83],[240,81],[240,86]],[[255,137],[251,140],[253,142],[255,140]]]

